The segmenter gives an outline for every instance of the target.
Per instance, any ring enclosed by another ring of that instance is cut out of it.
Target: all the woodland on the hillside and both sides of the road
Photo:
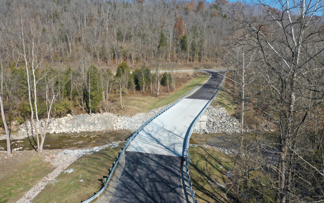
[[[127,94],[176,90],[177,67],[217,64],[241,122],[237,202],[322,202],[323,3],[1,1],[7,141],[30,121],[41,152],[49,118],[123,109]]]

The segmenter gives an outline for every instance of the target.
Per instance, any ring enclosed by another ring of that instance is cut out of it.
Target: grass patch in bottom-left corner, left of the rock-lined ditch
[[[0,181],[1,203],[16,202],[44,176],[53,171],[50,164],[44,162],[43,159],[43,156],[34,156],[21,170],[2,178]]]

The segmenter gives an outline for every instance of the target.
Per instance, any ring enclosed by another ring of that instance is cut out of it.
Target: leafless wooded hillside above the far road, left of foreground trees
[[[226,14],[216,4],[188,3],[1,1],[6,60],[23,63],[23,38],[34,42],[43,63],[73,63],[81,50],[108,66],[150,62],[158,54],[168,62],[219,60]]]

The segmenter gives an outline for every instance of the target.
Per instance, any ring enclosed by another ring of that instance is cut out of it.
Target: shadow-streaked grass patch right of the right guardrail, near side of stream
[[[228,172],[232,169],[232,159],[212,147],[189,148],[190,175],[195,198],[199,203],[234,202],[229,190]]]

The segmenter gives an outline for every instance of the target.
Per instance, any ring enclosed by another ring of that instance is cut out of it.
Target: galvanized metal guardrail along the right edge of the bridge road
[[[187,175],[187,181],[188,181],[188,185],[189,185],[189,189],[190,189],[190,193],[191,193],[191,197],[194,203],[198,203],[198,200],[195,200],[195,191],[192,191],[192,183],[190,182],[190,175],[189,175],[189,139],[191,137],[191,134],[193,132],[194,127],[196,126],[197,122],[199,121],[199,119],[202,117],[202,115],[205,113],[205,111],[207,110],[207,108],[210,106],[210,104],[215,100],[216,95],[218,94],[218,92],[220,91],[220,87],[216,90],[214,96],[212,97],[211,100],[209,100],[209,102],[205,105],[205,107],[203,108],[203,110],[200,111],[200,113],[198,114],[198,116],[195,118],[195,120],[191,123],[187,133],[186,133],[186,137],[187,137],[187,144],[186,144],[186,148],[184,151],[185,157],[186,157],[186,175]]]

